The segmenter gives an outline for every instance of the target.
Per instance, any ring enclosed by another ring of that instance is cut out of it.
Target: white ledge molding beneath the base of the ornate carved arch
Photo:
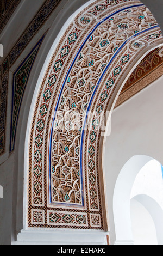
[[[108,232],[72,229],[23,229],[12,245],[107,245]]]

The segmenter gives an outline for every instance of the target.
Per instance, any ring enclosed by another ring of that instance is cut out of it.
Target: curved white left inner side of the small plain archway
[[[118,175],[113,197],[116,245],[123,244],[125,241],[128,244],[134,244],[130,220],[131,190],[137,174],[151,160],[152,158],[148,156],[133,156],[124,164]]]

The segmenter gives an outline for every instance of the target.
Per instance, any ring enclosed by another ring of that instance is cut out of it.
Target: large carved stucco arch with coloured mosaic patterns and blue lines
[[[32,117],[29,228],[108,229],[101,121],[135,64],[161,42],[153,15],[135,0],[92,1],[67,26]]]

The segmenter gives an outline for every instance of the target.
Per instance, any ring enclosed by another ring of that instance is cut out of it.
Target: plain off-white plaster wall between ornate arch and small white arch
[[[112,245],[116,240],[112,198],[122,167],[134,155],[150,156],[163,163],[162,83],[163,77],[112,113],[111,135],[106,138],[104,152]]]

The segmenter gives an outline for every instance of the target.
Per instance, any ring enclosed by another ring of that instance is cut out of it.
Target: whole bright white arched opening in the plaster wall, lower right
[[[115,245],[162,245],[162,166],[137,155],[124,164],[115,186]]]

